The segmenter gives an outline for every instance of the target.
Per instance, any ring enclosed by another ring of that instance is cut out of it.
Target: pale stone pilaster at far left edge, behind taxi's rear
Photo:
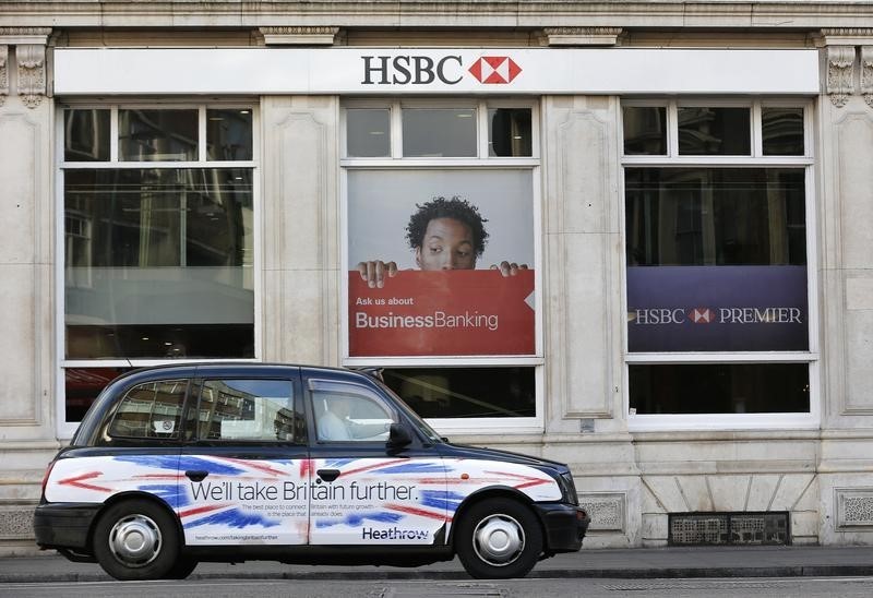
[[[48,28],[0,28],[0,552],[35,550],[31,521],[58,448],[52,101]]]

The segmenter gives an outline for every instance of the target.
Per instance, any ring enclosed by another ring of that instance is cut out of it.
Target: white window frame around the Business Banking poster
[[[545,427],[545,354],[543,354],[543,279],[542,279],[542,171],[541,171],[541,100],[539,98],[471,98],[457,96],[451,98],[342,98],[340,100],[340,271],[348,272],[348,178],[350,171],[361,170],[526,170],[531,176],[531,201],[534,225],[534,296],[538,309],[535,313],[534,338],[535,354],[521,357],[349,357],[348,280],[340,276],[340,363],[345,367],[434,367],[434,368],[475,368],[475,367],[531,367],[534,368],[535,416],[505,418],[427,418],[428,424],[443,434],[452,433],[501,433],[528,434],[541,433]],[[347,157],[347,108],[388,108],[390,109],[390,157]],[[477,155],[475,157],[403,157],[402,110],[404,108],[475,108],[477,129]],[[530,156],[490,156],[488,147],[488,110],[489,108],[529,108],[530,109]]]

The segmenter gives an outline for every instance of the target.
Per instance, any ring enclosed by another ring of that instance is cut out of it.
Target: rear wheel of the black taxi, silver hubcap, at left
[[[179,558],[176,519],[148,501],[113,504],[94,528],[94,555],[116,579],[167,578]]]

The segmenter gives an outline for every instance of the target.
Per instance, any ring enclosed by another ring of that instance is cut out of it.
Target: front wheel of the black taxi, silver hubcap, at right
[[[455,552],[473,577],[524,577],[542,552],[542,528],[534,512],[517,501],[482,501],[457,524]]]

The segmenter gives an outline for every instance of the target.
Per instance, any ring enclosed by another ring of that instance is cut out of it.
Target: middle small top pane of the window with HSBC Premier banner
[[[751,155],[750,115],[749,108],[679,108],[679,153]]]

